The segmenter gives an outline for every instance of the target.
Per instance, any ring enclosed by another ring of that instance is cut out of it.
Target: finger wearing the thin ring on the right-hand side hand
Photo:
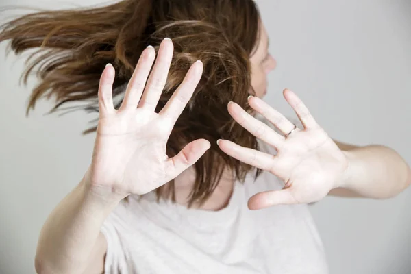
[[[294,129],[295,125],[291,123],[286,117],[277,112],[277,110],[271,108],[271,106],[262,101],[262,99],[258,97],[251,96],[249,97],[249,105],[251,108],[256,110],[256,112],[260,113],[264,116],[267,120],[270,121],[280,132],[283,134],[288,134],[292,129]]]

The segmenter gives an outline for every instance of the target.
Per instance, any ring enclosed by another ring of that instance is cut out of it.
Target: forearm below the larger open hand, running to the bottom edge
[[[118,201],[90,192],[84,179],[51,212],[36,251],[41,273],[82,273],[101,225]]]

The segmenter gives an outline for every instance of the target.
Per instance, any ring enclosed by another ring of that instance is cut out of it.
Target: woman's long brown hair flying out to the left
[[[229,157],[216,146],[219,138],[258,149],[254,136],[235,123],[227,103],[235,101],[251,112],[249,58],[259,39],[260,15],[253,0],[123,0],[99,8],[42,11],[20,16],[1,26],[0,42],[22,53],[38,48],[27,62],[27,77],[37,71],[40,82],[27,105],[27,115],[42,97],[54,97],[51,112],[69,102],[84,102],[82,109],[98,111],[97,90],[105,64],[116,69],[114,99],[121,105],[125,85],[143,49],[156,49],[163,38],[173,40],[175,51],[160,111],[189,66],[203,62],[203,77],[179,117],[167,143],[169,157],[197,138],[211,148],[195,164],[196,182],[189,206],[212,194],[227,168],[243,182],[252,167]],[[78,107],[73,109],[79,109]],[[86,129],[83,134],[95,131]],[[256,170],[258,176],[260,170]],[[174,182],[157,190],[175,200]]]

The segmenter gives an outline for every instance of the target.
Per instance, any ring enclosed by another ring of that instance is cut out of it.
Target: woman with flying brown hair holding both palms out
[[[53,110],[99,110],[92,162],[42,228],[38,273],[327,273],[306,203],[393,197],[411,181],[392,149],[329,138],[290,90],[301,128],[260,99],[275,60],[251,0],[42,12],[1,40],[40,47],[29,108],[55,96]]]

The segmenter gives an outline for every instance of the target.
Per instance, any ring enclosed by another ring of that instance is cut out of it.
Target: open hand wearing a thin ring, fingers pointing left
[[[277,155],[241,147],[229,140],[219,140],[221,150],[237,160],[273,173],[285,183],[282,190],[260,192],[251,197],[250,209],[319,201],[333,188],[342,186],[349,166],[345,153],[316,123],[299,97],[290,90],[284,90],[284,97],[299,116],[304,129],[295,128],[293,123],[258,97],[249,97],[251,108],[284,135],[258,121],[240,105],[233,102],[228,105],[228,111],[237,123],[274,147]]]

